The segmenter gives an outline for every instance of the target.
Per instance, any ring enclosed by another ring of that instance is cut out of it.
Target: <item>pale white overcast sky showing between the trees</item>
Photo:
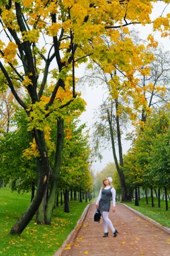
[[[164,9],[163,6],[165,6],[163,5],[163,3],[158,3],[157,5],[155,5],[154,17],[156,15],[161,15]],[[170,6],[167,6],[166,13],[170,13]],[[151,25],[146,25],[144,27],[139,25],[138,30],[139,30],[139,36],[143,39],[146,39],[148,34],[152,32],[152,27]],[[154,36],[155,36],[155,39],[161,42],[161,45],[164,47],[165,51],[170,51],[169,38],[161,38],[159,32],[155,32]],[[81,75],[83,75],[84,67],[85,66],[81,66],[81,68],[77,71],[77,74],[76,74],[77,76],[81,77]],[[105,91],[100,86],[98,86],[98,88],[93,86],[92,88],[87,86],[86,84],[85,87],[81,89],[81,93],[82,93],[82,97],[87,102],[86,112],[81,115],[81,121],[83,123],[87,123],[87,127],[89,127],[89,129],[92,129],[91,126],[93,125],[94,111],[102,103],[103,94],[105,93]],[[123,153],[125,154],[127,150],[130,148],[130,141],[123,140],[122,142],[123,142],[122,143]],[[101,160],[101,162],[97,161],[93,163],[93,170],[95,172],[103,170],[103,168],[105,168],[105,166],[109,162],[114,162],[114,157],[113,157],[111,148],[108,148],[108,150],[104,150],[102,152],[102,155],[103,155],[103,159]]]

